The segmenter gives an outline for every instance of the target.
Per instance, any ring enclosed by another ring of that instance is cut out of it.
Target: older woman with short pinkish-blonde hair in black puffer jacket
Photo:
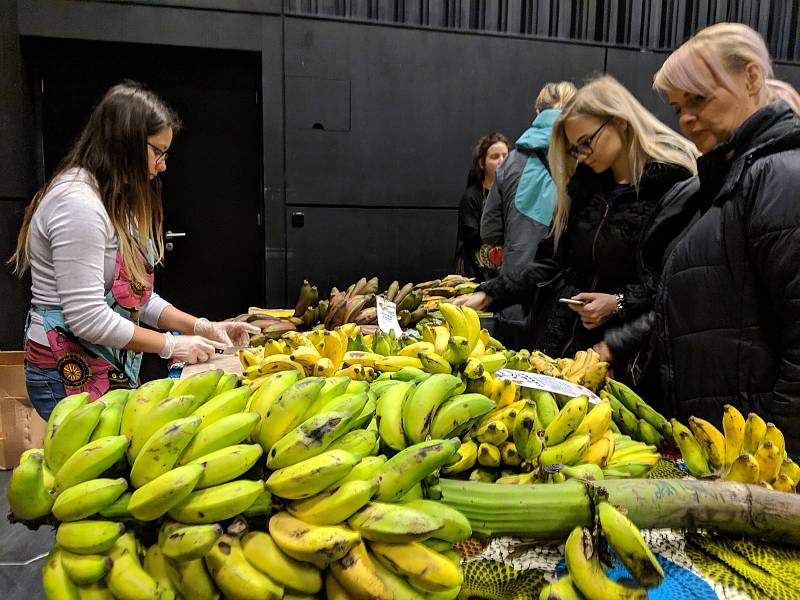
[[[656,302],[667,409],[717,425],[725,404],[777,425],[800,452],[800,120],[770,102],[761,36],[703,29],[654,88],[703,152],[676,189],[690,225],[664,262]]]

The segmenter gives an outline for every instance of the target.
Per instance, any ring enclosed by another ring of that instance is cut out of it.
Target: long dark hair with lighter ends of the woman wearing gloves
[[[81,168],[94,177],[128,274],[145,283],[147,273],[141,259],[150,242],[155,246],[156,262],[164,256],[161,185],[157,177],[149,180],[147,138],[168,127],[173,132],[180,129],[178,116],[144,85],[125,81],[109,89],[55,173],[25,210],[16,252],[9,261],[15,273],[21,275],[30,266],[31,219],[42,198],[65,171]]]

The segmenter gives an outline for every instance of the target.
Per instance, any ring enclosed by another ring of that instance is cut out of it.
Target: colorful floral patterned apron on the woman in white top
[[[122,255],[117,252],[114,281],[105,300],[114,312],[134,325],[139,324],[141,308],[153,291],[153,268],[149,262],[147,273],[147,285],[131,280]],[[32,312],[44,321],[50,350],[67,395],[88,392],[92,400],[96,400],[109,389],[136,387],[142,363],[140,352],[98,346],[79,339],[67,327],[64,313],[56,307],[31,306],[25,327],[26,339]]]

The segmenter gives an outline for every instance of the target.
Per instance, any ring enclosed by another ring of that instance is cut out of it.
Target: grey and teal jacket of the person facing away
[[[495,174],[481,218],[481,237],[487,244],[503,246],[501,272],[528,265],[550,229],[555,186],[546,161],[550,133],[560,112],[539,113]]]

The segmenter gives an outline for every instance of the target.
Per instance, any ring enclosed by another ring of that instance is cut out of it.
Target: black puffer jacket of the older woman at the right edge
[[[733,157],[728,157],[733,152]],[[664,263],[656,326],[667,409],[725,404],[800,452],[800,119],[784,102],[698,162],[699,210]]]

